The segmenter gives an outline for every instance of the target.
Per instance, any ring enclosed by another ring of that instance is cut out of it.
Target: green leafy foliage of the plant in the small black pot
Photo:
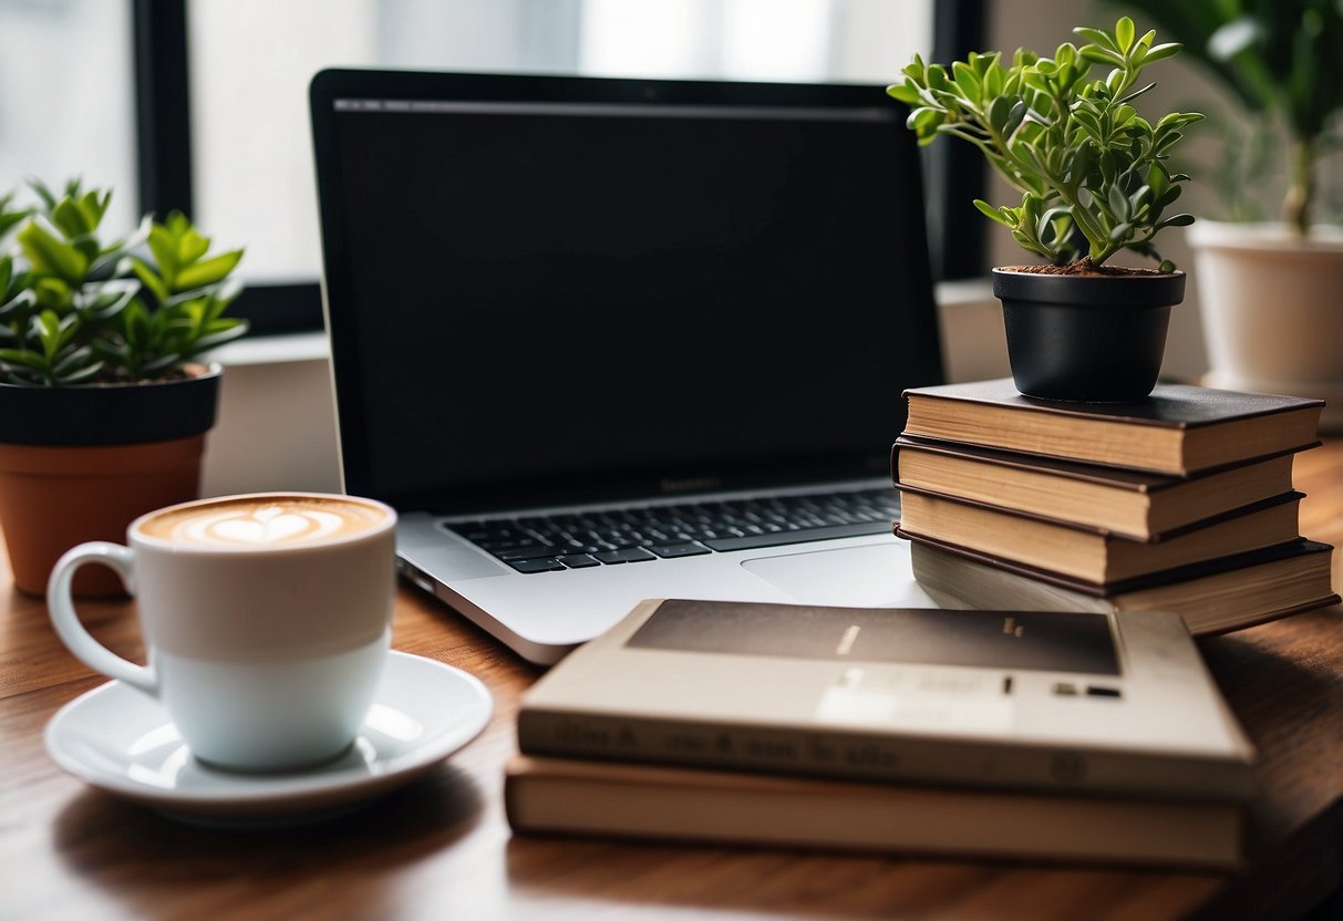
[[[1025,250],[1078,271],[1132,250],[1171,271],[1154,238],[1194,217],[1166,216],[1189,180],[1168,158],[1202,115],[1172,111],[1152,122],[1133,102],[1155,86],[1140,83],[1143,70],[1182,46],[1139,36],[1127,16],[1112,31],[1073,31],[1086,44],[1060,44],[1052,58],[972,52],[948,70],[915,56],[888,93],[911,107],[907,124],[920,145],[941,134],[968,141],[1021,192],[1017,207],[975,207]],[[1108,72],[1097,78],[1095,67]]]

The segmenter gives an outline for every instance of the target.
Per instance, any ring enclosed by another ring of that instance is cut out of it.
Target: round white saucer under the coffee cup
[[[196,761],[163,708],[111,681],[47,724],[47,752],[85,783],[175,818],[287,824],[345,811],[427,772],[466,745],[494,709],[477,678],[391,652],[363,729],[334,761],[294,773],[232,773]]]

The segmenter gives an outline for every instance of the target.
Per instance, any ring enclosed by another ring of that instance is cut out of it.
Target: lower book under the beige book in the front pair
[[[783,777],[740,771],[514,756],[514,831],[1228,870],[1241,862],[1233,802]]]

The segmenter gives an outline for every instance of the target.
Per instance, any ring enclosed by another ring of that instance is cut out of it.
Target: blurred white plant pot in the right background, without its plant
[[[1205,383],[1326,401],[1343,432],[1343,228],[1305,240],[1283,224],[1199,220],[1189,230],[1207,345]]]

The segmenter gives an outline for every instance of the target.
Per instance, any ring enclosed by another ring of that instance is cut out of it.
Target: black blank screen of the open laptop
[[[940,379],[881,87],[328,71],[312,102],[353,493],[882,474]]]

